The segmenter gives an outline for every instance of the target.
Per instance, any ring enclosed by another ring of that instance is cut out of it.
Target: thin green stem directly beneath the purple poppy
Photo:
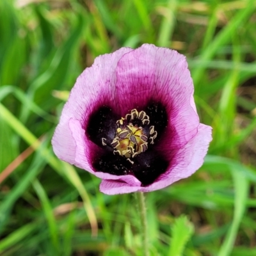
[[[141,220],[141,233],[142,233],[142,244],[143,244],[143,252],[144,256],[149,256],[148,251],[148,231],[147,231],[147,210],[145,206],[145,196],[143,192],[136,193],[139,213],[140,213],[140,220]]]

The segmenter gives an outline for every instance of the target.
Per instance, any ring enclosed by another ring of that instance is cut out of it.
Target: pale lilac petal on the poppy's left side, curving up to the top
[[[130,51],[132,49],[124,47],[112,54],[95,58],[92,67],[86,68],[77,78],[52,138],[54,153],[61,160],[70,164],[76,163],[76,143],[68,125],[70,118],[78,120],[86,127],[90,113],[97,106],[115,105],[116,65],[120,58]]]

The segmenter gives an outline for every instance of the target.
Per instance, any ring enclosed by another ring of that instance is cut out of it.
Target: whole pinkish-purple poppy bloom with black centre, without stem
[[[202,166],[212,140],[193,91],[176,51],[144,44],[99,56],[70,92],[54,152],[102,179],[109,195],[169,186]]]

